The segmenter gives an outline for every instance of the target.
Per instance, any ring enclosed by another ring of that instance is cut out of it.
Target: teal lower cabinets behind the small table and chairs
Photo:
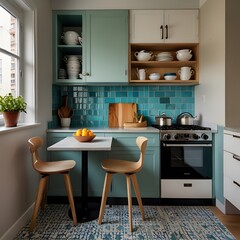
[[[88,153],[88,195],[90,197],[101,197],[105,171],[101,167],[101,161],[106,158],[137,161],[139,149],[136,145],[137,136],[148,138],[145,162],[142,170],[137,174],[138,184],[142,198],[160,197],[160,147],[158,134],[144,133],[97,133],[98,136],[113,137],[111,151],[94,151]],[[48,146],[61,139],[72,136],[72,132],[49,132],[47,134]],[[74,196],[81,196],[81,152],[76,151],[54,151],[48,152],[48,161],[73,159],[76,167],[70,172]],[[134,191],[133,196],[134,195]],[[62,176],[51,176],[49,183],[49,196],[66,196],[64,180]],[[113,176],[109,197],[127,197],[126,178],[124,175]]]

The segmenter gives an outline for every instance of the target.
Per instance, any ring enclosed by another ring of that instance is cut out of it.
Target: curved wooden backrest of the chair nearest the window
[[[39,172],[37,166],[42,164],[42,160],[40,159],[38,149],[43,146],[43,139],[40,137],[32,137],[28,140],[28,145],[32,154],[33,168]]]

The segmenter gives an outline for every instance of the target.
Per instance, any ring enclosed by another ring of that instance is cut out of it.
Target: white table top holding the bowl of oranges
[[[49,146],[48,151],[110,151],[112,137],[95,137],[91,142],[79,142],[74,137],[66,137],[63,140]]]

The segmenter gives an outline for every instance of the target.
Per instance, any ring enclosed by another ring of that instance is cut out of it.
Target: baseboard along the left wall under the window
[[[0,237],[0,240],[14,239],[17,233],[26,223],[31,219],[33,213],[34,203],[27,209],[27,211]]]

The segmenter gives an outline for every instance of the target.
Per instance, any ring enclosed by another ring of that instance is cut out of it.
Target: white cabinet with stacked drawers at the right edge
[[[224,130],[224,197],[240,210],[240,132]]]

